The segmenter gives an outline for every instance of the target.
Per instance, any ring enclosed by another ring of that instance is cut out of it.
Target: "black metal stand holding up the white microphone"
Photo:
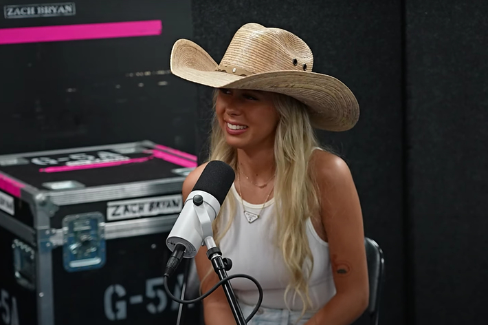
[[[232,261],[229,258],[222,258],[222,252],[215,244],[214,238],[211,236],[205,239],[205,244],[208,248],[207,257],[212,262],[212,266],[214,266],[214,271],[219,275],[219,280],[225,279],[227,277],[227,271],[230,270],[232,267]],[[236,295],[234,290],[232,289],[232,285],[230,282],[224,282],[222,284],[223,291],[225,296],[227,297],[227,301],[229,302],[230,309],[232,310],[232,314],[234,314],[234,319],[236,319],[237,325],[245,325],[245,317],[243,312],[241,311],[241,306],[239,306],[239,302],[236,300]]]

